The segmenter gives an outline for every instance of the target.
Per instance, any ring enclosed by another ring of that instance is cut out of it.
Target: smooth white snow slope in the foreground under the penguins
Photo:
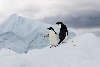
[[[97,37],[87,33],[72,40],[57,48],[34,49],[27,54],[1,49],[0,67],[100,67]]]

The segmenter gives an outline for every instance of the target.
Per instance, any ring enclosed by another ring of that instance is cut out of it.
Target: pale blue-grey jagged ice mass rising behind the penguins
[[[9,48],[17,53],[27,53],[31,49],[47,47],[49,40],[43,36],[49,33],[47,28],[50,26],[53,26],[56,32],[59,31],[56,25],[12,14],[0,25],[0,48]],[[75,33],[69,32],[69,34],[69,38],[75,36]]]

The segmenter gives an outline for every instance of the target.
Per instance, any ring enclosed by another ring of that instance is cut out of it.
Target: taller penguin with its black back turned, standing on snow
[[[59,32],[59,39],[60,41],[58,42],[58,44],[60,44],[61,42],[64,41],[65,37],[66,37],[66,33],[68,36],[68,30],[66,25],[64,25],[62,22],[57,22],[56,24],[58,24],[60,26],[60,32]]]

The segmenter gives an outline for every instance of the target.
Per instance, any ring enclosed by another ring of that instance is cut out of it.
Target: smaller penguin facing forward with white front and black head
[[[57,37],[56,37],[56,32],[52,27],[48,28],[49,29],[49,40],[50,40],[50,48],[56,47],[57,46]]]

